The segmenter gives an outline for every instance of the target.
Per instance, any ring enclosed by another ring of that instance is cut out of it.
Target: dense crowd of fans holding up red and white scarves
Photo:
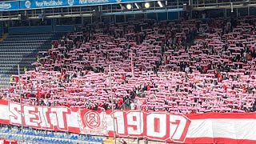
[[[108,110],[113,95],[115,109],[255,111],[255,31],[254,18],[82,26],[39,52],[21,90],[14,75],[0,98]]]

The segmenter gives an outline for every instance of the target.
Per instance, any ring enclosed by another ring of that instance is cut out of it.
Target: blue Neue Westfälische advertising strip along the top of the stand
[[[146,1],[146,0],[142,0]],[[2,10],[23,10],[63,6],[92,6],[98,4],[114,4],[118,2],[136,2],[135,0],[25,0],[0,2],[0,11]]]

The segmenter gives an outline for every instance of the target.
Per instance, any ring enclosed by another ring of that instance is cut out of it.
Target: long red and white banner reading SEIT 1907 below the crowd
[[[20,125],[21,106],[0,100],[0,123]],[[64,106],[22,106],[23,125],[40,130],[113,136],[112,111]],[[256,113],[176,115],[166,112],[115,110],[116,135],[185,143],[256,143]]]

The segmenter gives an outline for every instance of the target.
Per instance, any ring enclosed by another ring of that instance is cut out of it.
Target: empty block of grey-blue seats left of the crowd
[[[10,86],[10,76],[18,74],[18,64],[21,74],[23,67],[34,69],[31,64],[36,61],[38,51],[51,48],[51,41],[58,40],[64,33],[38,34],[8,34],[0,42],[0,87]]]

